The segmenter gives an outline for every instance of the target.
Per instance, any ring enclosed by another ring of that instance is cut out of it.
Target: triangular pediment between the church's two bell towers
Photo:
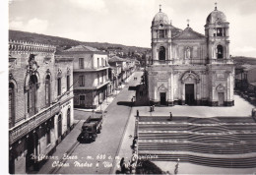
[[[204,34],[194,31],[191,28],[186,28],[173,36],[172,39],[202,39],[205,38]]]

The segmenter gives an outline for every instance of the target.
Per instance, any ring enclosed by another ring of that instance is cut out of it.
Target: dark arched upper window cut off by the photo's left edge
[[[15,86],[9,83],[9,128],[15,124]]]

